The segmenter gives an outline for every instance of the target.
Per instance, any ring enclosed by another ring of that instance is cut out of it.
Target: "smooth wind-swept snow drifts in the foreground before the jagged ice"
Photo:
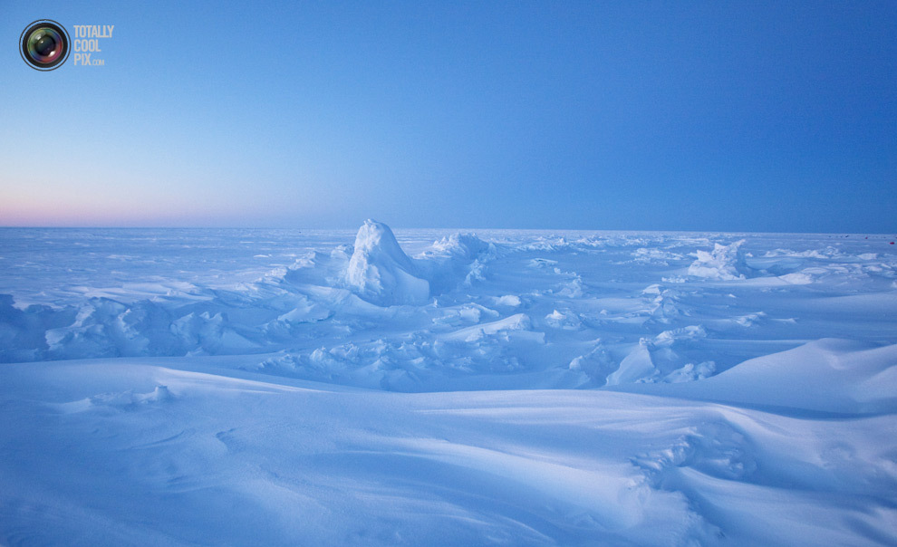
[[[243,376],[5,367],[5,542],[876,544],[897,517],[893,403],[803,416],[681,392]]]

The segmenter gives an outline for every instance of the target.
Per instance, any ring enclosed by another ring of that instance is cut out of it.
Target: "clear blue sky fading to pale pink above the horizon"
[[[37,72],[35,19],[113,24]],[[0,0],[0,226],[897,230],[897,2]]]

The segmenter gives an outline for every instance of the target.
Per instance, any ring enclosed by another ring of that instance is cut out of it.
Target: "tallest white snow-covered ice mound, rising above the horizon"
[[[429,299],[429,282],[392,235],[390,226],[365,220],[355,236],[355,248],[345,282],[362,299],[379,305],[420,304]]]

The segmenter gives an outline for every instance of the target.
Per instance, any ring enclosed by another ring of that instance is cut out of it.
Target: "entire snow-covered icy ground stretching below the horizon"
[[[0,544],[897,544],[892,241],[0,230]]]

